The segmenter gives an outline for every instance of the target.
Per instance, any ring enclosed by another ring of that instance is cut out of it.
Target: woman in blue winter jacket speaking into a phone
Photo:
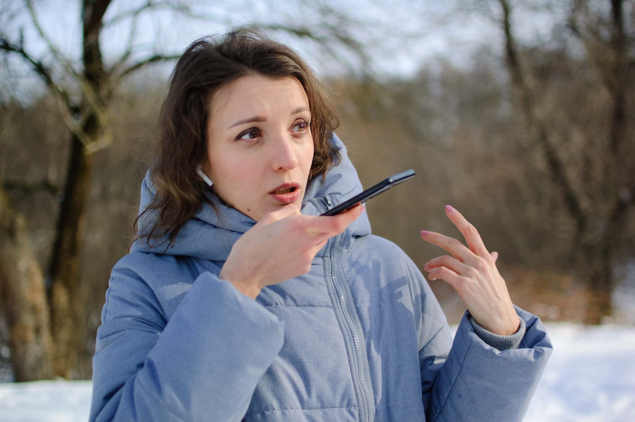
[[[424,268],[371,235],[333,100],[291,49],[237,29],[178,60],[112,269],[90,421],[520,421],[551,354],[476,230]],[[154,239],[150,244],[150,239]],[[163,241],[163,242],[159,242]]]

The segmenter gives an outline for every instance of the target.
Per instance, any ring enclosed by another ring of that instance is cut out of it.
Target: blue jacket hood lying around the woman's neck
[[[318,177],[307,185],[304,199],[302,199],[302,208],[300,209],[300,212],[304,215],[317,216],[327,204],[329,209],[333,208],[363,190],[357,171],[347,155],[347,150],[342,140],[333,133],[330,142],[339,150],[342,160],[336,166],[328,169],[324,183],[322,183],[322,177]],[[149,206],[154,195],[156,195],[156,188],[150,181],[150,169],[148,169],[141,186],[138,214],[141,214]],[[217,206],[220,218],[218,218],[210,204],[203,201],[199,212],[187,220],[178,232],[172,247],[167,247],[168,235],[164,235],[161,239],[152,239],[150,246],[147,245],[147,239],[137,239],[131,246],[130,253],[182,255],[213,261],[227,260],[234,242],[244,232],[253,227],[257,221],[235,208],[222,204],[211,189],[206,191],[206,197]],[[158,210],[156,209],[150,210],[143,218],[140,218],[138,221],[140,232],[145,232],[146,228],[149,230],[157,212]],[[370,233],[368,214],[364,210],[341,236],[344,237],[343,244],[347,245],[351,244],[355,237]],[[323,254],[324,249],[319,251],[318,256]]]

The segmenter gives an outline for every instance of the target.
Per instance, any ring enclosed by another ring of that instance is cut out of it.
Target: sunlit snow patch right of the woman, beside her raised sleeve
[[[635,327],[545,326],[554,351],[525,421],[635,421]]]

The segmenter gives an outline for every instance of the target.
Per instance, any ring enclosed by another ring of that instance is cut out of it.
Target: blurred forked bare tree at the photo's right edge
[[[582,40],[586,55],[608,92],[608,109],[598,119],[606,122],[605,137],[596,139],[585,133],[582,157],[576,171],[569,171],[571,150],[563,148],[549,105],[549,95],[540,90],[538,77],[523,63],[521,48],[514,36],[512,5],[498,0],[498,24],[504,34],[505,61],[511,84],[525,116],[528,133],[535,147],[544,154],[547,169],[563,202],[575,221],[575,240],[572,251],[577,261],[578,277],[589,288],[585,321],[598,324],[605,315],[612,314],[613,251],[617,239],[627,226],[629,210],[635,206],[635,143],[627,131],[627,93],[633,77],[634,40],[625,32],[624,2],[611,0],[608,13],[603,8],[591,10],[585,0],[571,3],[568,25]],[[608,34],[603,36],[602,34]],[[557,115],[555,115],[557,116]],[[565,136],[573,137],[574,127]],[[593,175],[594,183],[588,182]]]

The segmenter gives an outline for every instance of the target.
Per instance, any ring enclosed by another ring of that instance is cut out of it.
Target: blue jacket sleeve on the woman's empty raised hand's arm
[[[443,312],[436,300],[428,302],[432,309],[427,312]],[[419,352],[426,421],[523,420],[553,349],[540,319],[516,305],[514,308],[521,327],[525,326],[518,348],[498,350],[486,343],[488,339],[474,331],[467,310],[453,341],[447,322],[438,323]],[[498,344],[505,343],[498,340]]]

